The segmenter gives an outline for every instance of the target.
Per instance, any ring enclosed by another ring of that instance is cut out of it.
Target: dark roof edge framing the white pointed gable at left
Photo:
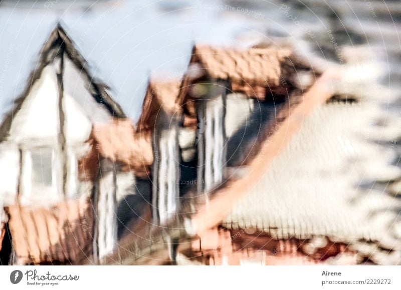
[[[47,65],[54,62],[57,57],[62,55],[66,55],[81,72],[81,76],[86,78],[88,83],[90,83],[89,90],[95,101],[99,104],[103,104],[113,117],[125,118],[125,114],[120,105],[118,105],[107,93],[108,87],[104,83],[94,80],[91,77],[86,68],[86,60],[80,55],[73,41],[68,37],[62,26],[58,24],[50,34],[46,43],[43,45],[38,60],[39,65],[31,73],[24,92],[16,99],[13,109],[9,114],[6,115],[2,125],[0,126],[0,142],[4,141],[8,136],[14,116],[21,109],[22,104],[29,95],[32,86],[41,77],[43,69]]]

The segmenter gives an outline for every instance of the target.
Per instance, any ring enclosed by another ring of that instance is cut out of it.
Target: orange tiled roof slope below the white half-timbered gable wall
[[[81,264],[92,253],[92,206],[68,200],[54,206],[6,207],[18,264]]]

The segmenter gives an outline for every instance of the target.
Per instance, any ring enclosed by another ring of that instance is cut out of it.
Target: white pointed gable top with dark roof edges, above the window
[[[59,24],[44,44],[26,89],[16,99],[13,109],[0,126],[0,141],[5,141],[10,136],[12,123],[16,121],[27,125],[28,127],[24,128],[27,132],[31,132],[32,126],[35,126],[34,131],[41,130],[41,134],[47,132],[54,135],[58,121],[55,109],[60,94],[65,94],[62,106],[66,111],[69,111],[68,108],[81,111],[81,115],[88,117],[92,122],[113,117],[125,118],[121,107],[112,100],[107,89],[105,84],[90,75],[86,60]],[[20,111],[23,114],[19,115],[23,115],[24,120],[16,120]],[[66,115],[68,118],[68,113]],[[79,119],[82,119],[82,116],[70,114],[69,119],[71,122],[78,120],[76,123],[80,123]],[[33,120],[39,123],[30,124]],[[24,131],[21,135],[24,135]]]

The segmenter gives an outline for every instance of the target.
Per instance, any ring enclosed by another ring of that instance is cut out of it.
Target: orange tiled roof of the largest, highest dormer
[[[178,102],[182,104],[191,84],[205,78],[230,81],[233,91],[265,99],[271,90],[291,89],[293,84],[289,80],[302,70],[310,71],[311,66],[297,59],[290,48],[239,50],[195,45]]]

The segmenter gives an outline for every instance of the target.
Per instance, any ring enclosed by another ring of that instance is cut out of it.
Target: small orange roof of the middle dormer
[[[179,107],[176,99],[179,93],[180,81],[178,79],[149,80],[145,98],[142,105],[142,113],[139,116],[136,129],[153,130],[157,117],[161,112],[168,115],[178,113]]]

